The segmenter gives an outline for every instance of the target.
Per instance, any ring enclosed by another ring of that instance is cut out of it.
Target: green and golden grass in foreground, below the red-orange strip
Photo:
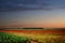
[[[65,43],[65,34],[18,34],[0,32],[0,43]]]

